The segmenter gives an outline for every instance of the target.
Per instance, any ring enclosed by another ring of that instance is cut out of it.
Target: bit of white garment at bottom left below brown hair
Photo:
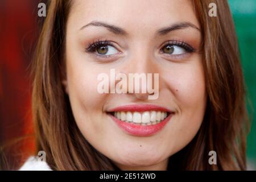
[[[46,162],[38,160],[36,157],[31,156],[26,160],[19,171],[52,171]]]

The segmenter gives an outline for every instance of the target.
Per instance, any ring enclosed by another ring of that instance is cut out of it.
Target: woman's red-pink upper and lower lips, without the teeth
[[[169,113],[169,115],[167,118],[163,119],[163,121],[160,121],[155,125],[138,125],[135,123],[124,122],[114,117],[114,115],[112,114],[109,114],[109,115],[113,119],[113,121],[117,123],[117,125],[121,129],[125,130],[127,133],[138,136],[138,137],[148,137],[148,136],[154,135],[155,133],[163,129],[163,127],[166,126],[166,123],[170,121],[172,115],[174,115],[174,112],[164,107],[160,107],[156,105],[126,105],[126,106],[115,107],[114,109],[110,110],[110,112],[114,112],[114,111],[115,112],[117,111],[144,112],[144,111],[152,111],[152,110],[166,111]]]

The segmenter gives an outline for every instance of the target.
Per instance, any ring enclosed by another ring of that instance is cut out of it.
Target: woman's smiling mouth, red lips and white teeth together
[[[163,129],[174,112],[156,105],[127,105],[116,107],[108,114],[126,133],[148,137]]]

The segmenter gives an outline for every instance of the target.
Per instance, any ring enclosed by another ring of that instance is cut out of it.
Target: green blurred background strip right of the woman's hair
[[[249,168],[256,169],[256,0],[229,0],[241,52],[247,90],[247,109],[252,119],[247,137]],[[252,108],[251,108],[252,107]]]

